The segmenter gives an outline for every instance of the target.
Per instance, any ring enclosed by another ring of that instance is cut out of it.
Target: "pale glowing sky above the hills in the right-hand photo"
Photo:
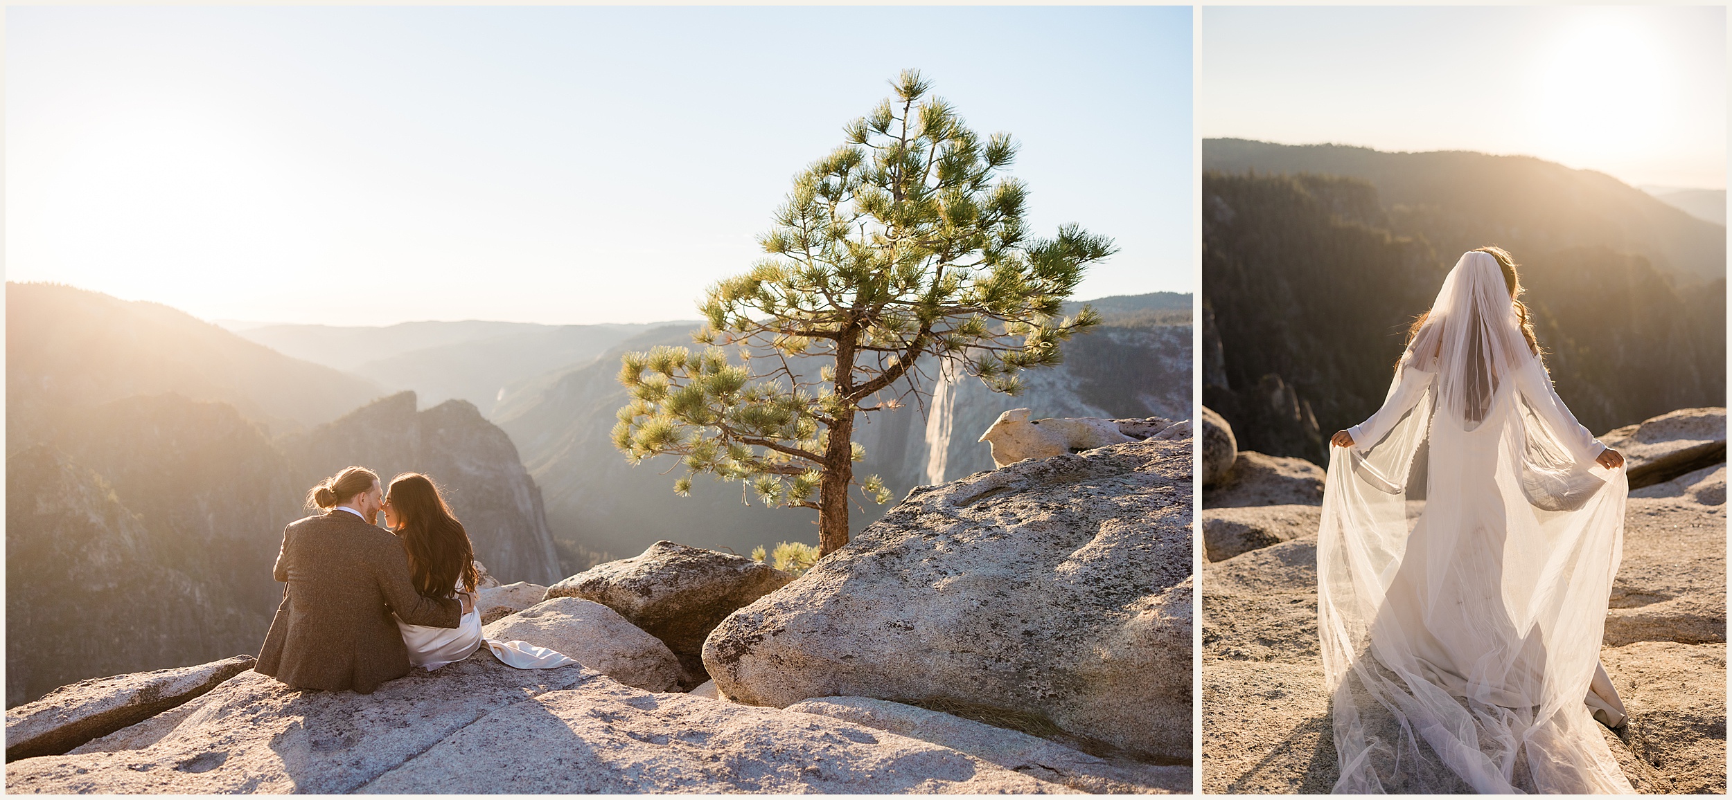
[[[1207,7],[1202,137],[1528,154],[1725,189],[1725,7]]]

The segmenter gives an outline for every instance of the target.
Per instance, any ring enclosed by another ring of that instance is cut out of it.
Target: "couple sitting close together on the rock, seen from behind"
[[[288,587],[255,670],[300,689],[371,694],[483,644],[518,668],[577,663],[481,635],[475,549],[428,476],[398,474],[386,494],[371,469],[348,468],[313,487],[307,506],[322,513],[282,530],[275,577]],[[374,523],[381,511],[390,532]]]

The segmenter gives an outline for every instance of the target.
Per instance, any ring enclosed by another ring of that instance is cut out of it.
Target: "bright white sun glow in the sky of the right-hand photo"
[[[1564,28],[1535,52],[1535,144],[1576,163],[1658,147],[1675,125],[1675,80],[1670,57],[1633,16]]]

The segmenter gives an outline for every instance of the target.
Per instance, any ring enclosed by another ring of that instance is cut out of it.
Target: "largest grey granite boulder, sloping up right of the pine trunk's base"
[[[703,661],[745,703],[894,700],[1190,764],[1190,438],[920,487]]]

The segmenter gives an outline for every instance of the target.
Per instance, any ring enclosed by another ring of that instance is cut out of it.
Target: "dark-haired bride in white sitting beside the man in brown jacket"
[[[409,625],[397,620],[409,648],[409,663],[436,670],[469,658],[481,644],[501,661],[523,670],[565,667],[577,660],[521,641],[495,641],[481,635],[481,611],[469,601],[480,578],[469,533],[450,513],[433,480],[404,473],[391,480],[385,495],[385,526],[397,533],[409,554],[409,577],[424,597],[464,597],[462,620],[454,629]],[[393,616],[395,618],[395,616]]]

